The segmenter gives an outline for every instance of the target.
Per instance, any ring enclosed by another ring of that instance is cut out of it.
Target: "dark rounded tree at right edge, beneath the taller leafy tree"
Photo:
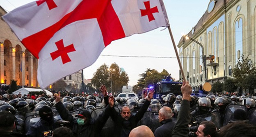
[[[256,88],[256,75],[248,75],[245,77],[242,85],[245,89],[249,89],[250,94],[253,94],[254,89]]]

